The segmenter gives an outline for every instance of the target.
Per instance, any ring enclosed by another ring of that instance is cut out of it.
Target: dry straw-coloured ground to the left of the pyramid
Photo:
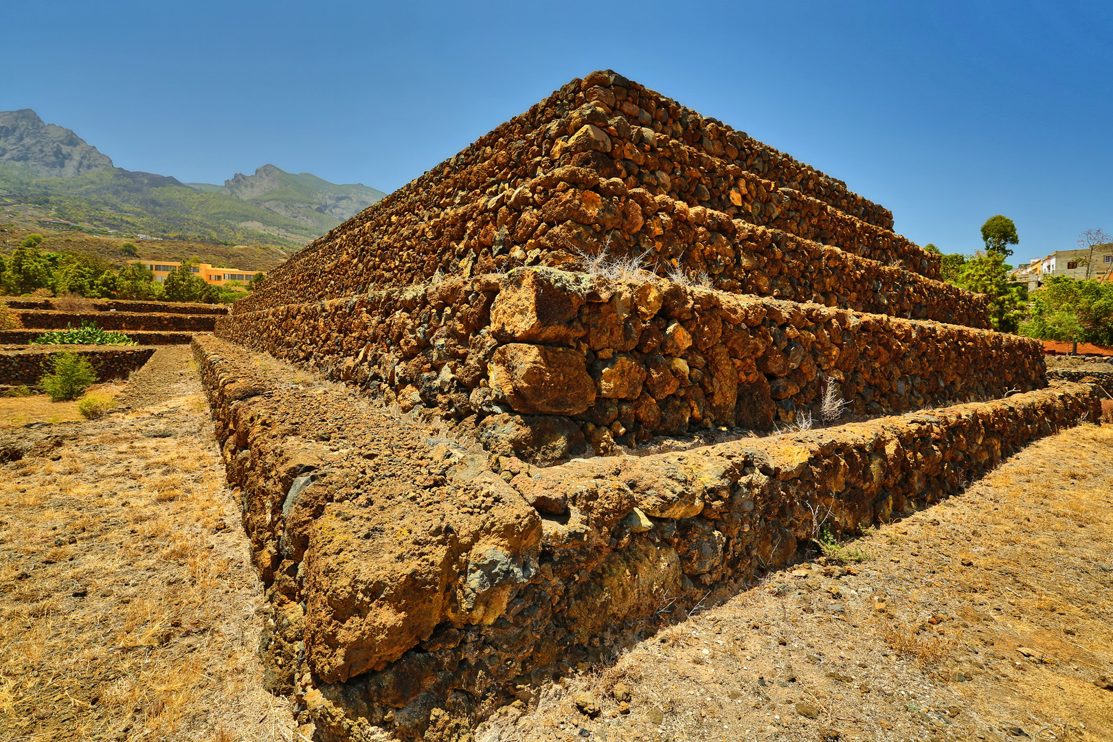
[[[121,386],[99,421],[2,432],[28,455],[0,474],[0,739],[293,740],[189,348]]]

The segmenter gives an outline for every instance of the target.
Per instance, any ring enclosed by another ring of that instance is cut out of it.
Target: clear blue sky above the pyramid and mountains
[[[612,68],[845,180],[897,230],[1016,259],[1113,233],[1109,2],[10,2],[0,110],[117,166],[273,162],[392,190]]]

